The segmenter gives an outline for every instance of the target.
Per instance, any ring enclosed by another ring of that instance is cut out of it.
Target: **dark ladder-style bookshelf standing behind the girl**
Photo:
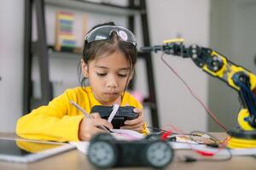
[[[56,8],[72,8],[84,12],[93,12],[109,15],[122,15],[128,19],[128,27],[131,31],[135,30],[135,15],[140,15],[142,24],[143,44],[150,45],[148,33],[148,16],[145,0],[129,0],[127,6],[121,6],[111,3],[93,3],[91,1],[81,0],[26,0],[25,5],[25,38],[24,38],[24,94],[23,111],[24,113],[32,111],[38,105],[47,105],[53,99],[52,84],[49,81],[49,56],[57,58],[59,54],[67,58],[79,57],[79,53],[59,52],[49,46],[46,41],[46,27],[44,6],[50,5]],[[32,41],[32,10],[36,13],[37,21],[37,41]],[[32,93],[32,58],[38,56],[38,69],[40,77],[40,98],[35,98]],[[150,53],[138,53],[138,58],[143,59],[146,65],[148,79],[148,97],[144,99],[144,106],[150,110],[151,124],[153,127],[159,127],[159,116],[157,111],[157,99],[154,88],[154,71],[152,65],[152,56]],[[132,83],[131,83],[132,88]]]

